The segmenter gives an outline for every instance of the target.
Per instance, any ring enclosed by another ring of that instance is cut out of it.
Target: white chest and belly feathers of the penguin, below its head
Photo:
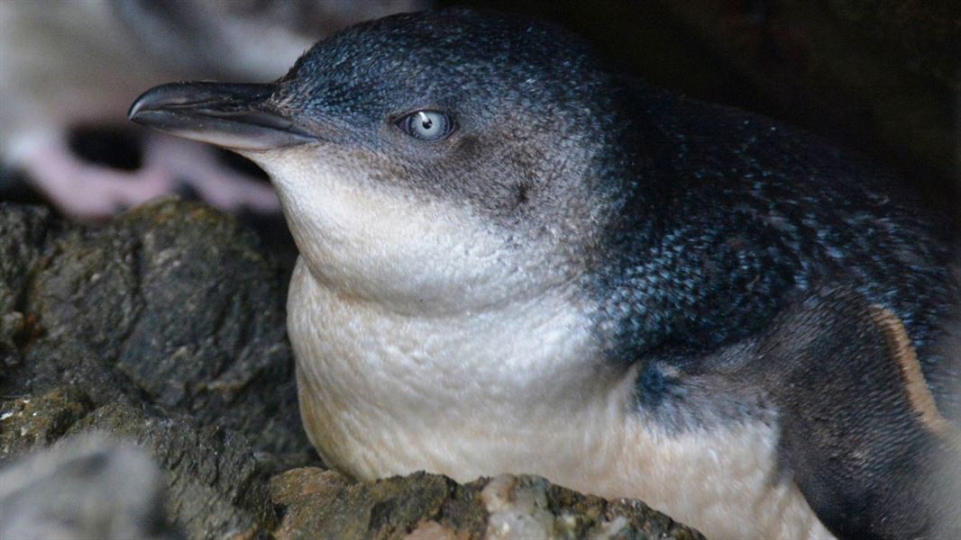
[[[777,474],[776,427],[644,423],[635,368],[591,363],[589,323],[561,297],[408,317],[331,291],[300,262],[288,311],[308,435],[357,479],[530,473],[640,498],[711,538],[830,537]]]

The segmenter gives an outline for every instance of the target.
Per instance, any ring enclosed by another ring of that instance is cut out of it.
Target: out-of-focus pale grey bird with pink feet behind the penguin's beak
[[[270,81],[337,28],[425,7],[421,0],[3,2],[0,160],[78,220],[102,220],[175,191],[227,210],[277,213],[269,185],[209,149],[155,133],[144,141],[142,167],[125,171],[82,159],[70,130],[123,123],[145,82]]]

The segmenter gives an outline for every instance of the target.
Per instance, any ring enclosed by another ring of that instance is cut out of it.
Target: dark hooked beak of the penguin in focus
[[[127,116],[143,126],[236,151],[316,142],[317,137],[268,106],[273,84],[172,82],[147,90]]]

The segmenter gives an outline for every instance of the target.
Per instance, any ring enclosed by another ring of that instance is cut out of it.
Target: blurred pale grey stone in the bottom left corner
[[[71,438],[0,472],[0,538],[175,539],[163,478],[136,448]]]

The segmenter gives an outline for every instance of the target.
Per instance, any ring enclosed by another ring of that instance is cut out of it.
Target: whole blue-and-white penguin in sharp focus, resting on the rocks
[[[271,176],[304,424],[350,477],[534,473],[712,538],[961,530],[951,231],[811,135],[462,10],[130,117]]]

